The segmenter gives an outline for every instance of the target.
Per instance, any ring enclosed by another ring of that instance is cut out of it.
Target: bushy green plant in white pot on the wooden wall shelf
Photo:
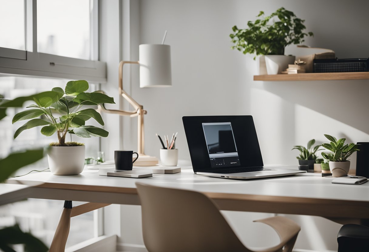
[[[265,61],[268,74],[280,74],[287,69],[288,64],[294,64],[295,60],[295,56],[284,55],[284,48],[304,42],[304,37],[313,36],[313,32],[304,33],[305,20],[297,18],[292,11],[283,7],[266,17],[260,11],[256,17],[261,18],[248,21],[248,28],[238,29],[236,25],[232,27],[230,37],[235,45],[231,48],[244,54],[265,55],[265,59],[259,58],[259,65]]]

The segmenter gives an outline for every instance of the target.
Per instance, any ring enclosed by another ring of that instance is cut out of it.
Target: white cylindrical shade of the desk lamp
[[[172,68],[169,45],[139,45],[140,87],[170,87]]]

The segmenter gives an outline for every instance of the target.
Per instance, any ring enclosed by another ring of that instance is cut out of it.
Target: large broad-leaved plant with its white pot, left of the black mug
[[[52,136],[56,133],[58,142],[51,143],[48,152],[49,168],[54,175],[77,175],[85,164],[85,144],[66,142],[66,134],[76,134],[79,137],[107,137],[108,132],[95,126],[85,125],[90,118],[104,125],[101,115],[93,108],[82,109],[84,106],[96,106],[103,103],[114,103],[112,97],[100,92],[85,92],[89,84],[85,80],[69,81],[65,90],[56,87],[52,91],[42,92],[30,97],[16,98],[33,100],[36,104],[31,108],[14,115],[13,123],[31,119],[21,126],[14,134],[16,138],[26,129],[37,126],[41,134]],[[43,116],[44,118],[39,118]]]

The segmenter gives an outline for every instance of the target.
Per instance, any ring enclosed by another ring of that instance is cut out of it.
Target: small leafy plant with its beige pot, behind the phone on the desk
[[[324,143],[322,146],[331,153],[322,152],[322,156],[329,160],[329,168],[333,177],[347,176],[350,169],[350,161],[348,158],[358,151],[358,146],[354,143],[345,144],[346,139],[341,138],[337,140],[335,137],[324,134],[324,136],[330,140],[330,143]]]

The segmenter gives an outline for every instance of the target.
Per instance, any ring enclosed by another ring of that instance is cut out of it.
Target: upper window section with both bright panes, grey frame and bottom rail
[[[0,73],[106,82],[97,2],[0,0]]]

